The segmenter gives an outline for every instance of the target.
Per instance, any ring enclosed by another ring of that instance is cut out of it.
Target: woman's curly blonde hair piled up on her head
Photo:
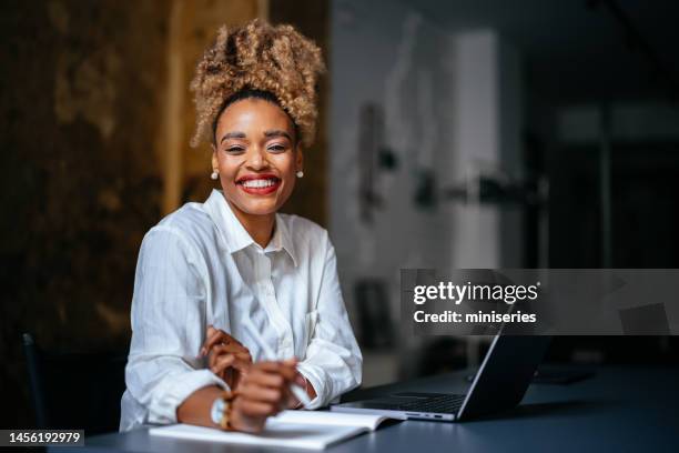
[[[229,100],[243,90],[273,94],[291,117],[301,142],[314,141],[316,81],[325,71],[321,49],[292,26],[271,26],[255,19],[217,32],[191,82],[196,130],[191,145],[214,140],[214,127]]]

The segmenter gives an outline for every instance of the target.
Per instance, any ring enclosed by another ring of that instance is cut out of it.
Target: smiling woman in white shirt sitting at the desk
[[[359,384],[327,232],[276,213],[303,177],[322,72],[312,41],[259,20],[222,28],[199,63],[192,144],[212,142],[222,190],[144,236],[121,431],[180,422],[257,432],[300,406],[293,383],[311,409]],[[261,361],[246,319],[277,361]]]

